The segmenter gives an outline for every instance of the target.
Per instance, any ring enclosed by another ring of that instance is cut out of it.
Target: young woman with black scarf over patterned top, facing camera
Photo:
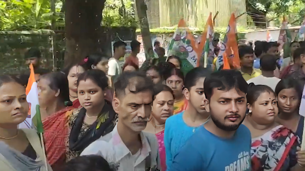
[[[108,78],[100,70],[85,71],[78,77],[78,99],[83,107],[74,109],[69,118],[67,161],[79,156],[89,144],[113,130],[116,113],[111,103],[104,99],[107,86]]]

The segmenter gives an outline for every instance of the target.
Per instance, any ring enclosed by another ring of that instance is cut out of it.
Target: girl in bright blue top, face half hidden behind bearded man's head
[[[209,119],[205,110],[203,82],[210,72],[205,68],[194,68],[185,76],[184,96],[188,100],[188,109],[166,120],[164,145],[167,170],[170,170],[174,156],[196,129]]]

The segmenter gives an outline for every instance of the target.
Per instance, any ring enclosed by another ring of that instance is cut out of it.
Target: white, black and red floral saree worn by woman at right
[[[299,138],[292,130],[280,125],[251,144],[252,171],[287,171],[297,164]]]

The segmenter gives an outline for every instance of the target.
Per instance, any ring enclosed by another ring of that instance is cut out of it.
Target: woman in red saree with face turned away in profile
[[[41,77],[38,83],[38,100],[43,123],[43,139],[47,161],[56,170],[66,159],[68,116],[73,107],[65,107],[69,100],[66,75],[54,72]]]

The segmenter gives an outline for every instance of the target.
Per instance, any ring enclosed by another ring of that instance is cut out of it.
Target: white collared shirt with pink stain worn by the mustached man
[[[142,148],[135,155],[131,155],[120,138],[116,125],[111,133],[90,144],[81,155],[100,155],[107,160],[114,171],[145,171],[149,167],[160,168],[156,136],[145,132],[141,132],[140,136]]]

